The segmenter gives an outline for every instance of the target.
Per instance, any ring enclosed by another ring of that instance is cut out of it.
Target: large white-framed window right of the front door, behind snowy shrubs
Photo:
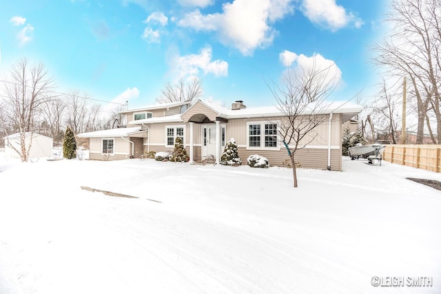
[[[277,148],[277,123],[250,122],[247,123],[247,148],[263,149]]]

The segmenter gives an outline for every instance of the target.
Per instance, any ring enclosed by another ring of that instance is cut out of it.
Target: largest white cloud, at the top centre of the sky
[[[272,43],[275,30],[271,23],[292,13],[293,0],[234,0],[223,4],[223,13],[202,14],[194,10],[178,25],[194,30],[216,31],[220,43],[252,55],[256,48]]]

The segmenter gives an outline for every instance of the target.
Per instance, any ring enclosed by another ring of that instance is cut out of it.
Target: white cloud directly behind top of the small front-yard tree
[[[287,51],[285,50],[285,52]],[[289,58],[295,56],[290,67],[283,72],[285,78],[293,78],[296,76],[297,79],[301,79],[302,76],[311,76],[311,74],[314,74],[317,75],[315,81],[322,85],[333,84],[337,86],[342,82],[342,72],[340,68],[334,61],[325,59],[325,57],[320,54],[306,56],[304,54],[298,55],[294,52],[289,52],[284,54],[284,56],[288,56]]]

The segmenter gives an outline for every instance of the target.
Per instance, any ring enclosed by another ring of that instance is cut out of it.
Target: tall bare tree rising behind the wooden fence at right
[[[441,0],[393,0],[389,22],[393,29],[388,39],[375,45],[373,60],[395,76],[409,76],[417,101],[417,143],[424,137],[427,107],[437,120],[441,138],[440,46]]]

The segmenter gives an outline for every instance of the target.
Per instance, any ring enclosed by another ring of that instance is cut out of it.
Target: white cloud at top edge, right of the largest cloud
[[[310,21],[329,28],[332,32],[336,32],[350,23],[353,23],[356,28],[363,25],[362,19],[337,5],[336,0],[303,0],[300,10]]]

